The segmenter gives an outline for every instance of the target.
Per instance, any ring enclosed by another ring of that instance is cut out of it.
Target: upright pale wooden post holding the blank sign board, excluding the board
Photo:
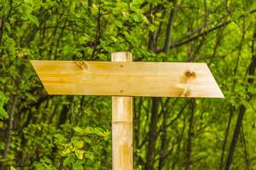
[[[111,54],[112,61],[132,61],[132,54]],[[120,65],[123,67],[123,65]],[[123,93],[123,89],[117,89]],[[132,97],[112,97],[112,160],[113,170],[133,169]]]

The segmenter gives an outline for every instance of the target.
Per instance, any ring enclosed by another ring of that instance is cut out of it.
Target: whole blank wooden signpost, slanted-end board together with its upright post
[[[205,63],[32,60],[48,94],[111,95],[113,170],[133,169],[132,96],[224,98]]]

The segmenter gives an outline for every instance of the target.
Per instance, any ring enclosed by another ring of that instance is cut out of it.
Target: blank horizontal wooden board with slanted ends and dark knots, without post
[[[48,94],[224,98],[205,63],[32,60]]]

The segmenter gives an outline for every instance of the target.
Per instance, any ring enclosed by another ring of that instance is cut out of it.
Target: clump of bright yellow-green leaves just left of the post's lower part
[[[100,144],[102,140],[108,142],[109,131],[104,131],[100,127],[73,127],[73,130],[75,135],[70,142],[61,144],[61,156],[65,158],[64,165],[71,164],[74,169],[89,165],[93,167],[96,163],[95,153],[103,150]],[[56,139],[61,139],[61,134],[57,135]]]

